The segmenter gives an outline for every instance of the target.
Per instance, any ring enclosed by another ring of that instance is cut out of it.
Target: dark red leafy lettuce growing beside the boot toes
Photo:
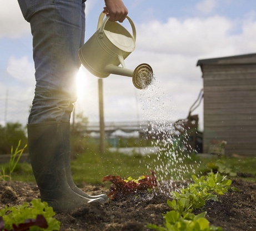
[[[152,176],[143,175],[139,179],[134,180],[132,178],[123,179],[120,175],[107,175],[102,178],[102,181],[109,181],[111,185],[108,193],[109,199],[121,199],[130,194],[136,194],[139,192],[148,192],[150,189],[157,187],[157,179],[155,172],[150,170]]]

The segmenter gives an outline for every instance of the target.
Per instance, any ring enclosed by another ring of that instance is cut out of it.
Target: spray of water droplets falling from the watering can
[[[185,180],[183,179],[184,174],[195,172],[195,170],[192,164],[183,164],[185,159],[190,158],[185,145],[188,135],[177,135],[177,131],[170,122],[172,108],[169,106],[171,104],[169,102],[166,104],[164,94],[160,83],[154,78],[152,84],[140,91],[140,103],[142,104],[143,120],[148,120],[146,133],[153,138],[152,145],[159,147],[156,153],[158,162],[154,160],[147,163],[147,168],[157,172],[159,181],[165,180],[165,182],[173,183]],[[160,160],[164,161],[161,163]],[[168,184],[165,187],[172,186]]]

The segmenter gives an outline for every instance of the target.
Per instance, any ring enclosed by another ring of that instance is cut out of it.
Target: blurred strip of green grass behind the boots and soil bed
[[[181,171],[183,179],[191,179],[191,175],[194,173],[202,174],[214,166],[220,166],[226,173],[249,173],[253,176],[243,179],[256,180],[256,157],[231,158],[212,156],[206,158],[202,157],[202,155],[194,154],[190,158],[184,158],[184,155],[180,154],[177,159],[179,159],[178,163],[172,163],[172,158],[168,158],[164,153],[160,155],[151,154],[145,157],[138,154],[129,156],[118,152],[99,154],[97,147],[91,147],[77,154],[76,158],[72,160],[71,167],[74,182],[78,185],[91,183],[108,186],[109,182],[102,183],[102,178],[109,174],[137,179],[143,174],[149,174],[148,165],[157,172],[157,176],[159,176],[157,167],[165,167],[166,169],[163,169],[163,171],[168,174],[164,175],[163,179],[175,179],[175,174],[177,173],[175,169],[185,169],[187,166],[190,169],[194,169],[195,172],[190,170]],[[12,180],[35,182],[31,165],[18,163],[12,174]]]

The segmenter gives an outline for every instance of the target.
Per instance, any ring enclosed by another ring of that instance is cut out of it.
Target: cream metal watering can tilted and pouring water
[[[135,49],[136,29],[132,19],[126,19],[132,26],[132,35],[117,22],[109,21],[106,14],[99,16],[97,31],[79,49],[79,59],[83,66],[94,76],[106,78],[109,74],[132,77],[133,85],[138,89],[149,86],[153,79],[153,70],[146,64],[140,64],[134,70],[126,68],[124,59]],[[121,64],[121,67],[119,65]]]

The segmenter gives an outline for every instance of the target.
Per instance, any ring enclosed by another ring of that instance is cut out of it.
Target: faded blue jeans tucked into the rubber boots
[[[84,0],[18,0],[31,24],[36,89],[28,124],[69,122],[76,102]]]

